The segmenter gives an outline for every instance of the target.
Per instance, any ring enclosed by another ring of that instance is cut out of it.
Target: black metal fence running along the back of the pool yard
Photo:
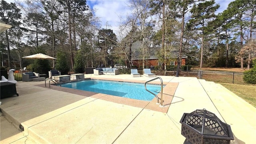
[[[94,68],[87,68],[84,72],[85,74],[92,74]],[[140,74],[143,74],[142,68],[136,68],[138,69],[138,72]],[[14,78],[17,81],[22,80],[22,73],[23,72],[33,72],[33,70],[17,70],[14,72]],[[120,68],[119,69],[120,74],[130,74],[130,68]],[[151,70],[152,73],[156,75],[166,75],[166,76],[176,76],[176,70],[170,71],[167,70],[164,72],[164,70]],[[74,69],[69,69],[68,74],[74,74]],[[198,79],[204,79],[206,81],[212,81],[212,82],[219,82],[219,83],[231,83],[231,84],[246,84],[243,80],[244,74],[242,72],[220,72],[220,71],[179,71],[178,76],[186,76],[186,77],[197,77]],[[46,74],[46,77],[48,78],[48,74]]]

